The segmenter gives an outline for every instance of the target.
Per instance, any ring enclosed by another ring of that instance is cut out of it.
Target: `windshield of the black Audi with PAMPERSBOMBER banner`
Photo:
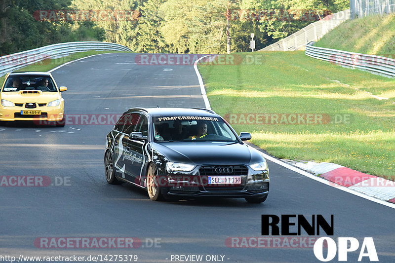
[[[155,142],[235,142],[237,137],[219,117],[161,116],[153,117]]]

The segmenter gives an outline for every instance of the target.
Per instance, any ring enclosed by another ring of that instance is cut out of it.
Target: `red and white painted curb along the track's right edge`
[[[395,203],[394,181],[361,173],[334,163],[283,161],[328,180],[334,183],[334,186],[343,186],[383,201]]]

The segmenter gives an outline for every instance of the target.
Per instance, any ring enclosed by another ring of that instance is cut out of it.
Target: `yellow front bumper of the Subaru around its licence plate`
[[[22,115],[21,111],[41,111],[41,115]],[[37,124],[45,124],[41,121],[59,121],[63,119],[63,102],[57,107],[37,107],[26,109],[24,107],[3,107],[0,105],[0,121],[33,120]]]

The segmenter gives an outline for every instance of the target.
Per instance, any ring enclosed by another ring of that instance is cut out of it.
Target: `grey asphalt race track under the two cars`
[[[66,114],[121,114],[131,107],[204,108],[193,66],[140,66],[134,56],[98,55],[52,72],[58,86],[68,87],[63,93]],[[148,263],[174,262],[171,255],[224,255],[223,261],[230,263],[315,263],[320,261],[313,248],[234,248],[225,241],[264,237],[262,214],[321,214],[325,219],[334,215],[335,240],[355,237],[360,249],[364,237],[373,237],[379,261],[395,262],[393,208],[273,162],[270,194],[263,204],[233,198],[154,202],[136,187],[108,185],[104,144],[112,127],[67,123],[60,128],[30,122],[0,127],[0,176],[48,176],[53,184],[0,187],[1,255],[137,255],[137,262]],[[45,249],[35,244],[40,237],[136,237],[143,243],[135,249]],[[348,254],[348,262],[357,262],[359,249]],[[369,260],[364,257],[362,262]]]

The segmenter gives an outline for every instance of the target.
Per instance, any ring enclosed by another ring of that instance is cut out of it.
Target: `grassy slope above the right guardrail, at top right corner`
[[[348,20],[318,40],[316,46],[395,58],[395,14]]]

